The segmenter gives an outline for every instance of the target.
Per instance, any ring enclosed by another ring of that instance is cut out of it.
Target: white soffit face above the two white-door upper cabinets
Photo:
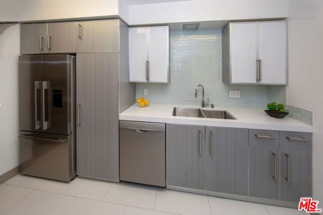
[[[288,0],[192,0],[129,6],[130,25],[287,16]]]

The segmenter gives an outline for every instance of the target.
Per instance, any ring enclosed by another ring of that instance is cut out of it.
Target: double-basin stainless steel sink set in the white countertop
[[[202,110],[199,108],[174,107],[173,116],[214,118],[214,119],[236,119],[226,110]]]

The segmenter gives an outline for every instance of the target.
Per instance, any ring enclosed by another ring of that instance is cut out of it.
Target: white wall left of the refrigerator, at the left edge
[[[19,35],[18,24],[0,24],[0,175],[19,165]]]

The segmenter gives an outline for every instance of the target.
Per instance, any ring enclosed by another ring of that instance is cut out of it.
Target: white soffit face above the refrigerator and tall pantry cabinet
[[[0,21],[118,15],[118,0],[0,0]]]

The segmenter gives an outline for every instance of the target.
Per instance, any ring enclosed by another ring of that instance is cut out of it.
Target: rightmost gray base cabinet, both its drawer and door
[[[280,133],[281,200],[298,202],[312,196],[311,133]]]

